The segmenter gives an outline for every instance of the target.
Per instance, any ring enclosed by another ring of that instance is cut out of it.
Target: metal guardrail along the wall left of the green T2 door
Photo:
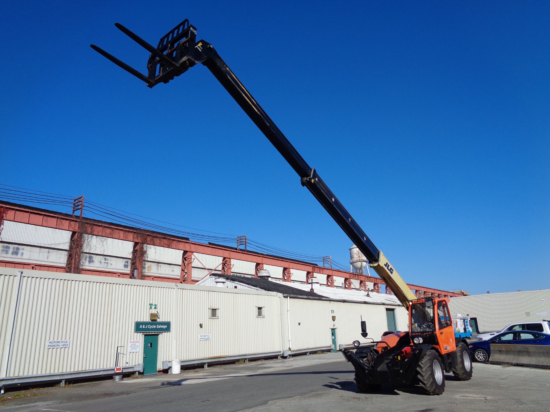
[[[140,363],[133,366],[123,366],[122,368],[123,375],[134,372],[143,372],[143,364]],[[0,378],[0,391],[1,393],[4,393],[4,388],[14,386],[30,386],[37,383],[60,382],[63,386],[65,381],[76,381],[79,379],[102,376],[114,376],[114,366],[113,368],[90,369],[78,372],[65,372],[62,374],[8,376],[5,378]]]

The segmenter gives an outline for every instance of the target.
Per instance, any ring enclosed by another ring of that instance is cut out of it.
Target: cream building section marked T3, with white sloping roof
[[[219,282],[223,279],[224,282]],[[284,283],[243,276],[210,275],[197,285],[222,286],[234,289],[256,289],[279,292],[288,299],[289,330],[288,346],[293,349],[332,346],[334,335],[336,347],[347,346],[358,340],[370,339],[360,335],[361,319],[367,322],[369,338],[378,340],[387,330],[408,330],[409,317],[399,300],[393,295],[349,291],[315,285]],[[312,296],[307,296],[311,293]],[[332,331],[333,330],[333,331]],[[283,338],[284,341],[284,338]],[[312,346],[313,345],[313,346]]]

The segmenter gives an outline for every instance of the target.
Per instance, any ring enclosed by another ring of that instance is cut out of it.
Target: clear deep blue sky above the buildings
[[[351,242],[205,67],[149,90],[89,47],[145,71],[147,52],[113,23],[156,44],[188,18],[405,281],[550,287],[547,2],[2,14],[1,183],[346,264]]]

